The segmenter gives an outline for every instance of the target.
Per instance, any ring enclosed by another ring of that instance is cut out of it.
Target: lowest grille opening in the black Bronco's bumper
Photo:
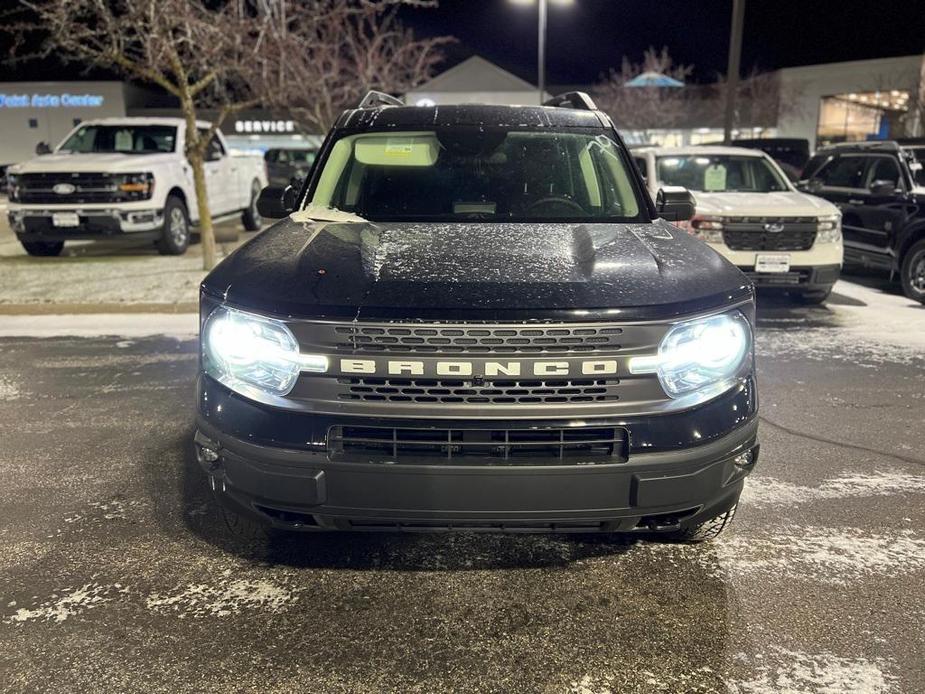
[[[465,465],[623,463],[629,435],[620,427],[415,429],[334,426],[332,460]]]

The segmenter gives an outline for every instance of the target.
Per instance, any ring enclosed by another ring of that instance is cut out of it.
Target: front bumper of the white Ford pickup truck
[[[53,215],[75,212],[77,226],[57,227]],[[162,208],[18,208],[8,212],[10,228],[20,241],[84,239],[157,239],[164,226]]]

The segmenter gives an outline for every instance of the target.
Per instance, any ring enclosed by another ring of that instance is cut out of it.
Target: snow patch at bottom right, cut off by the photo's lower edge
[[[878,658],[843,658],[832,653],[809,654],[774,648],[776,665],[757,667],[757,676],[730,682],[735,694],[886,694],[895,691],[896,678]]]

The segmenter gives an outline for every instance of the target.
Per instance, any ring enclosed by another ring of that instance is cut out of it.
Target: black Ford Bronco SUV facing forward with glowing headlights
[[[260,209],[285,219],[201,292],[195,441],[229,525],[699,541],[732,517],[753,288],[587,95],[371,94]]]

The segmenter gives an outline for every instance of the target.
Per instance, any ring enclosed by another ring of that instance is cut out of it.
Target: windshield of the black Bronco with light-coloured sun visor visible
[[[371,221],[630,221],[645,211],[596,132],[455,127],[348,135],[309,202]]]

